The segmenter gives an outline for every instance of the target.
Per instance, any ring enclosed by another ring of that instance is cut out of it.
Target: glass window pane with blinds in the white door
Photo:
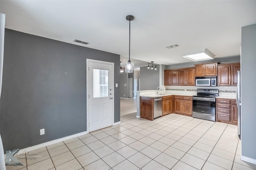
[[[93,98],[108,97],[108,70],[93,69]]]

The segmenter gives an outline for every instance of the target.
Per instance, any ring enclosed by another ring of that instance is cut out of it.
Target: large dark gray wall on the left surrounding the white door
[[[120,55],[5,30],[0,101],[4,150],[87,131],[86,59],[114,63],[114,84],[120,85]],[[114,122],[118,121],[120,86],[114,87]]]

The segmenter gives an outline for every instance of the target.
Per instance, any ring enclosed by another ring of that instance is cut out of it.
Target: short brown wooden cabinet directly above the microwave
[[[217,76],[218,62],[195,64],[195,76]]]

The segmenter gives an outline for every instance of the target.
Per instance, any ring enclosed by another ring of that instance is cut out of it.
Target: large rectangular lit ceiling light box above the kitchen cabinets
[[[183,54],[182,57],[190,59],[192,61],[203,61],[214,59],[215,55],[210,52],[208,49],[203,49],[200,51],[194,51],[192,53]]]

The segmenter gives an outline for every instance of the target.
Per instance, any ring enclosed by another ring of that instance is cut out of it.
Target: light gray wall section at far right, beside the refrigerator
[[[256,24],[242,27],[241,142],[242,156],[256,163]]]

